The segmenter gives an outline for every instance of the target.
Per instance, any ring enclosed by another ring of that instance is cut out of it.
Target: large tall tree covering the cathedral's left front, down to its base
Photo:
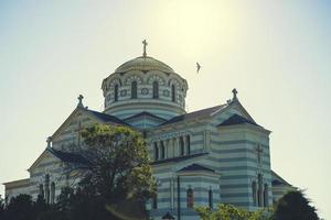
[[[125,127],[94,125],[82,132],[81,182],[58,200],[70,219],[135,219],[156,194],[150,160],[140,133]]]

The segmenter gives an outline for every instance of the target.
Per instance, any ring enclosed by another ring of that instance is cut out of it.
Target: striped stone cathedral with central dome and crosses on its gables
[[[147,205],[152,219],[199,219],[193,207],[232,204],[248,210],[271,206],[295,189],[271,170],[270,131],[241,105],[237,90],[226,103],[185,111],[188,81],[167,64],[143,54],[117,67],[102,82],[104,111],[77,107],[47,139],[44,152],[28,169],[29,178],[6,183],[6,198],[29,194],[53,204],[77,176],[68,165],[83,163],[82,128],[125,125],[146,138],[158,194]]]

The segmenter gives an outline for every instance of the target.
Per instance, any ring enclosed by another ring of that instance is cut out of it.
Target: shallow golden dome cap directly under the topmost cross
[[[173,69],[167,64],[150,57],[150,56],[139,56],[131,61],[128,61],[120,65],[115,73],[127,73],[130,70],[140,70],[140,72],[149,72],[149,70],[159,70],[167,74],[173,74]]]

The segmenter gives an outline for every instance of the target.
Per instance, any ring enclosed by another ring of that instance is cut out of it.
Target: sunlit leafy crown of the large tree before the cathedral
[[[109,202],[138,199],[145,202],[156,193],[150,160],[140,133],[125,127],[95,125],[82,136],[88,160],[82,190],[103,195]]]

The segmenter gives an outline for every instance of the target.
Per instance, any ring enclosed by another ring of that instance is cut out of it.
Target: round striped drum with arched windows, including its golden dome
[[[186,80],[154,58],[136,59],[104,79],[105,112],[120,119],[142,111],[166,119],[185,113]]]

